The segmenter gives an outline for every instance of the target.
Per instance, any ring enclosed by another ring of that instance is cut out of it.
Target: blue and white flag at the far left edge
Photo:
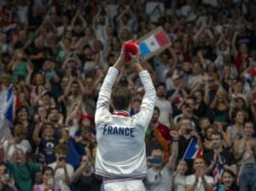
[[[14,90],[11,86],[0,95],[0,137],[11,134],[10,125],[14,123]]]

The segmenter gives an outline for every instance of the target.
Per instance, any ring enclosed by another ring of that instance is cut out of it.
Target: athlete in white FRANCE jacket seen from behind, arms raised
[[[117,86],[112,93],[116,78],[125,63],[124,47],[116,63],[108,69],[97,102],[96,174],[103,177],[105,191],[145,190],[142,182],[147,173],[144,137],[153,115],[156,90],[149,72],[140,64],[140,50],[136,46],[137,54],[130,54],[130,67],[139,72],[145,89],[139,113],[129,116],[132,97],[128,88]],[[110,104],[113,113],[109,111]]]

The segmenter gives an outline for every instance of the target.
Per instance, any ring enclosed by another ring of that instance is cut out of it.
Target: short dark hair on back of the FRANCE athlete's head
[[[113,90],[112,104],[115,110],[127,110],[131,102],[132,95],[127,87],[119,86]]]

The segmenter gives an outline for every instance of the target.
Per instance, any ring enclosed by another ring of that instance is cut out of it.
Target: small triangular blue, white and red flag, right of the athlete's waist
[[[203,156],[203,152],[202,150],[199,148],[196,139],[191,139],[187,149],[185,150],[185,159],[194,159],[194,158],[198,158],[198,157],[202,157]]]

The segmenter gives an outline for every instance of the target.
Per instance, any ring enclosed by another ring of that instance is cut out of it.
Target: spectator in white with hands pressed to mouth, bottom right
[[[205,175],[206,163],[203,158],[195,158],[193,162],[193,175],[185,177],[185,191],[211,191],[213,190],[213,177]]]

